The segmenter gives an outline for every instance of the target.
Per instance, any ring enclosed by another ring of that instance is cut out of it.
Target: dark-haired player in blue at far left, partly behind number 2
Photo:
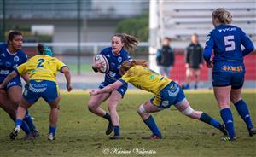
[[[0,44],[0,84],[9,73],[14,71],[15,67],[26,62],[27,56],[22,48],[23,37],[18,31],[10,31],[7,44]],[[21,77],[28,81],[28,75],[25,73]],[[4,86],[0,93],[0,107],[7,113],[11,119],[15,120],[16,109],[21,100],[22,84],[20,76],[10,80],[9,84]],[[38,137],[39,133],[32,122],[32,118],[26,111],[26,116],[21,128],[26,132],[24,139]],[[10,135],[10,138],[13,137]]]

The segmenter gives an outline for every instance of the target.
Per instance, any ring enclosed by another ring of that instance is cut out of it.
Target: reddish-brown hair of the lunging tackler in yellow
[[[124,75],[131,67],[134,67],[137,65],[148,67],[148,61],[145,61],[145,60],[124,61],[122,63],[122,66],[119,69],[119,73],[121,75]]]

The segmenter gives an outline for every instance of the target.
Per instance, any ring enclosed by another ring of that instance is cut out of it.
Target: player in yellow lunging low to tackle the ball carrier
[[[165,78],[159,73],[148,69],[146,61],[125,61],[120,68],[120,73],[123,75],[113,84],[109,84],[101,90],[91,90],[90,95],[96,96],[102,93],[111,92],[119,88],[123,84],[131,83],[133,86],[141,90],[154,93],[154,97],[142,104],[137,112],[142,117],[144,123],[152,131],[150,137],[143,139],[160,139],[162,135],[154,118],[150,113],[159,112],[163,109],[170,108],[172,104],[183,114],[192,119],[200,119],[201,121],[214,126],[222,131],[224,135],[224,125],[221,125],[218,120],[213,119],[207,113],[195,111],[190,107],[189,102],[184,96],[183,90],[169,78]]]

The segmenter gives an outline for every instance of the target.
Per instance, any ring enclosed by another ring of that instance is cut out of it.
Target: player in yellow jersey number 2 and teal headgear
[[[50,106],[48,139],[54,140],[58,119],[58,106],[61,100],[55,75],[57,71],[64,73],[67,81],[67,91],[72,90],[70,83],[71,77],[67,66],[55,57],[50,56],[51,50],[48,47],[38,44],[38,52],[40,55],[35,55],[30,58],[29,61],[15,67],[15,71],[9,73],[4,79],[3,83],[0,85],[0,89],[3,89],[11,79],[19,74],[28,73],[30,80],[28,84],[26,84],[23,97],[17,109],[15,129],[11,134],[13,137],[18,135],[26,109],[30,108],[32,104],[38,101],[38,98],[42,97]]]

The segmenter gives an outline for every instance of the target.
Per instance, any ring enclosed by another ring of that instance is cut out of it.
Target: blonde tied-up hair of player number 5
[[[214,9],[212,11],[212,17],[219,20],[219,23],[222,24],[230,24],[232,22],[232,15],[231,13],[223,8]]]

